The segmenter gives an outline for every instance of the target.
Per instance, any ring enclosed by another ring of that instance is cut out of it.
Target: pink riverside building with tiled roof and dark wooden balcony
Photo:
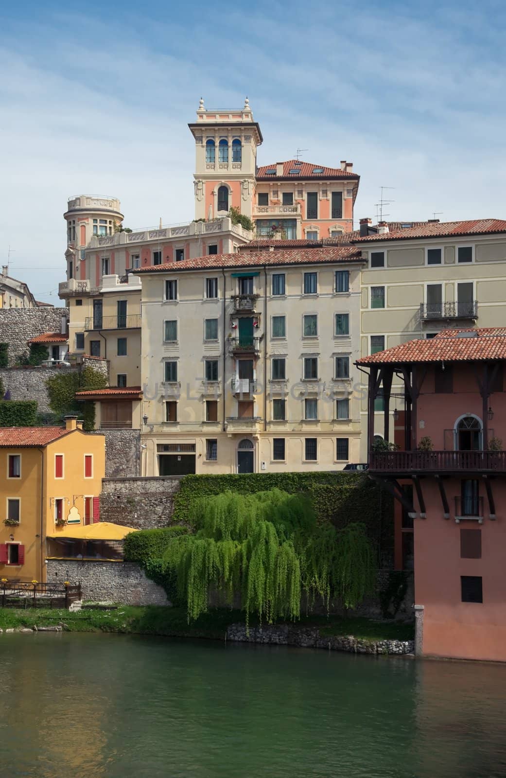
[[[442,331],[358,360],[369,370],[369,474],[413,519],[419,654],[506,661],[505,361],[506,328]],[[391,397],[394,377],[403,398]],[[394,401],[400,450],[388,442]]]

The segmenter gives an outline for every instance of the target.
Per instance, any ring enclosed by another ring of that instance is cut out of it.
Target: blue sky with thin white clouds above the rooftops
[[[354,163],[356,223],[506,218],[506,6],[143,3],[0,8],[0,264],[62,304],[72,195],[120,198],[132,229],[194,218],[205,107],[247,95],[257,163]]]

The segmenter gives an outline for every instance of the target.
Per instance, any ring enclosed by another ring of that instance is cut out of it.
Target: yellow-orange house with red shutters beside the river
[[[75,416],[65,427],[0,429],[0,577],[44,582],[47,536],[92,524],[104,475],[105,437]]]

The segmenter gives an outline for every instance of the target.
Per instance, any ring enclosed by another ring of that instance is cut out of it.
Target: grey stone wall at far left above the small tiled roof
[[[44,332],[61,332],[67,308],[0,309],[0,343],[9,343],[9,359],[28,353],[28,341]]]

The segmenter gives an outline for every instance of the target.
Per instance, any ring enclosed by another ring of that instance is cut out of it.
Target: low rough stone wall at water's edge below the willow
[[[304,648],[325,648],[330,651],[347,651],[351,654],[413,654],[413,640],[357,640],[350,636],[322,636],[319,629],[295,625],[266,625],[250,627],[245,624],[231,624],[226,633],[227,640],[242,643],[274,643],[278,646]]]

